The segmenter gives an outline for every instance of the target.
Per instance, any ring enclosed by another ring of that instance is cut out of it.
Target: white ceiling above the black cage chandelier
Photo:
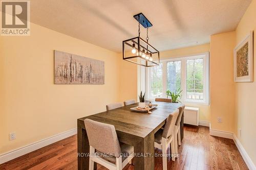
[[[212,34],[236,29],[251,0],[32,0],[31,22],[115,52],[138,36],[133,15],[153,27],[159,51],[209,42]],[[142,27],[143,28],[143,27]],[[145,29],[142,29],[145,38]]]

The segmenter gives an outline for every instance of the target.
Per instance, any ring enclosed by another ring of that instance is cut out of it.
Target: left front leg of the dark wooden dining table
[[[77,168],[78,170],[89,169],[89,154],[90,145],[86,129],[82,128],[83,125],[77,124]],[[94,169],[97,169],[97,163],[94,163]]]

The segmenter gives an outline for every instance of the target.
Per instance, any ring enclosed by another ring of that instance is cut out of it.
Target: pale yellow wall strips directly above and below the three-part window
[[[189,46],[184,48],[178,48],[175,50],[168,50],[161,52],[161,59],[167,59],[167,58],[179,58],[179,57],[186,57],[190,55],[200,54],[204,52],[209,52],[210,44],[202,44],[202,45],[196,45],[196,46]],[[183,102],[183,101],[182,101]],[[193,107],[199,107],[199,120],[209,121],[210,119],[210,110],[209,105],[199,105],[199,104],[191,104],[183,102],[186,106],[193,106]]]

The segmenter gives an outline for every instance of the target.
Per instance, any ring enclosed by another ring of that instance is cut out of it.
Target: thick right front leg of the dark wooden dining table
[[[151,132],[134,145],[134,153],[135,170],[154,170],[154,132]]]

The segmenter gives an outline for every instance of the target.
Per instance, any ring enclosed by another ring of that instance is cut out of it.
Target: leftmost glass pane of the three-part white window
[[[151,96],[153,98],[163,96],[162,63],[151,67]]]

